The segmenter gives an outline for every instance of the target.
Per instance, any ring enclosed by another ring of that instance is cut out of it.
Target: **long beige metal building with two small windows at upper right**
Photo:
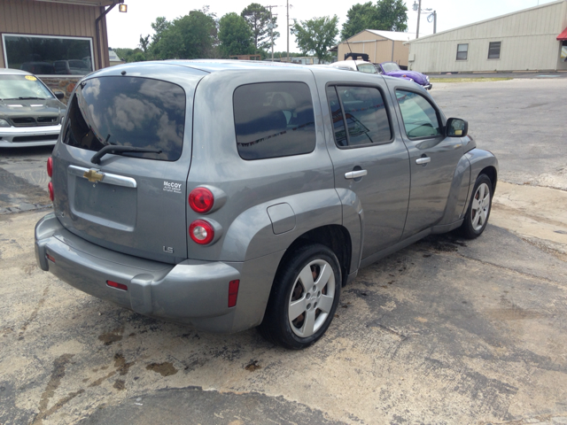
[[[408,68],[422,73],[567,70],[566,27],[567,0],[541,4],[411,40]]]

